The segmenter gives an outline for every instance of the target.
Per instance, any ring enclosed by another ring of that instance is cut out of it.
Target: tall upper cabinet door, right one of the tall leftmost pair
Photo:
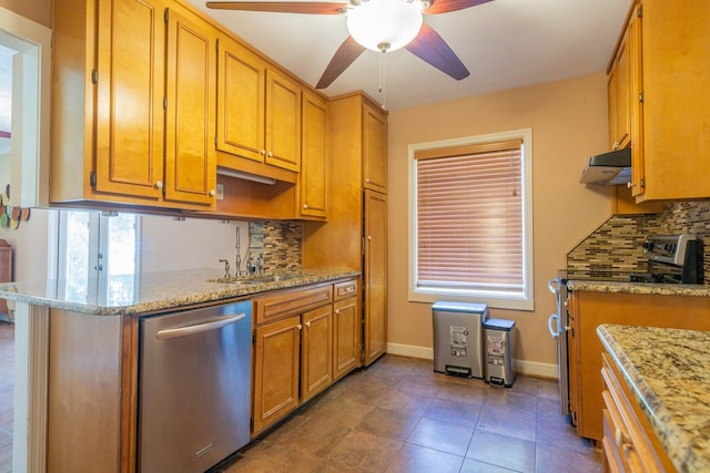
[[[217,32],[209,23],[169,12],[165,199],[214,206]]]

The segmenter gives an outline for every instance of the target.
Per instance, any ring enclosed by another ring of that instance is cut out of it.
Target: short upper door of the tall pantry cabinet
[[[363,187],[387,192],[387,117],[363,105]]]

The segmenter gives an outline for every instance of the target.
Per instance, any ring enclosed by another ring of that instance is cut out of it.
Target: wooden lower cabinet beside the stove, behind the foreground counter
[[[577,434],[601,441],[601,323],[710,330],[710,304],[696,296],[572,290],[568,300],[570,410]]]

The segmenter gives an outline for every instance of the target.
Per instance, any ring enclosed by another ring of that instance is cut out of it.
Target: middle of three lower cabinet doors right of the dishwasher
[[[333,382],[333,306],[302,316],[301,395],[307,401]]]

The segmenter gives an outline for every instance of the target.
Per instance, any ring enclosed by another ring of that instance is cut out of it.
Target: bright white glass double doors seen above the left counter
[[[58,291],[81,304],[121,306],[138,297],[140,217],[60,210]]]

